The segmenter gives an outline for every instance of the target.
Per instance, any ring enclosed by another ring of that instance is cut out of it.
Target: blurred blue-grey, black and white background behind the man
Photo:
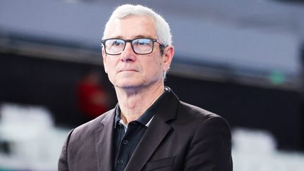
[[[304,1],[0,1],[0,170],[57,170],[72,127],[117,103],[101,37],[113,9],[170,24],[165,84],[232,127],[234,170],[304,170]]]

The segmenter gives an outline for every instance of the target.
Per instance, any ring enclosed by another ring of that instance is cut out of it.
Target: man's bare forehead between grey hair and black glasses
[[[156,37],[156,25],[149,16],[127,16],[110,22],[106,38],[134,39],[136,37]]]

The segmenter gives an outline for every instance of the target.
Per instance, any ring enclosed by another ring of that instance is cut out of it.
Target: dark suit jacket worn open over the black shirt
[[[111,171],[115,109],[73,129],[58,170]],[[229,125],[219,115],[179,101],[170,90],[125,170],[232,170]]]

